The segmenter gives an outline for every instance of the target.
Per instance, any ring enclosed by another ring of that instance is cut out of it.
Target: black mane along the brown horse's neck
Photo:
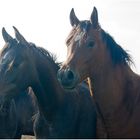
[[[133,64],[131,56],[120,45],[118,45],[114,41],[114,39],[104,30],[102,30],[102,39],[106,43],[107,48],[110,51],[112,61],[115,65]]]

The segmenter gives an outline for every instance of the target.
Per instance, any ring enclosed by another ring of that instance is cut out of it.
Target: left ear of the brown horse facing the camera
[[[71,25],[72,26],[74,26],[74,25],[78,25],[79,24],[79,19],[76,17],[76,15],[75,15],[75,12],[74,12],[74,9],[72,8],[71,9],[71,12],[70,12],[70,23],[71,23]]]

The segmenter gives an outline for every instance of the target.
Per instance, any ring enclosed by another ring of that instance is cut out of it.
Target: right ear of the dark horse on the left
[[[18,31],[18,29],[16,27],[14,27],[14,26],[13,26],[13,28],[14,28],[14,31],[15,31],[15,36],[16,36],[17,41],[19,41],[23,45],[28,45],[28,42],[21,35],[21,33]]]

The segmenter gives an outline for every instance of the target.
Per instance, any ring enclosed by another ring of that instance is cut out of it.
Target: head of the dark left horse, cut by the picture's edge
[[[14,39],[2,29],[5,45],[0,53],[0,97],[12,98],[32,84],[34,69],[32,56],[28,54],[29,45],[14,27]],[[27,63],[30,62],[30,63]]]

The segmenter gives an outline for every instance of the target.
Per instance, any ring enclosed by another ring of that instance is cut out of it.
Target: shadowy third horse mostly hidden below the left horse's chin
[[[22,135],[34,135],[32,117],[37,113],[36,101],[31,89],[20,93],[0,105],[0,138],[19,139]]]

